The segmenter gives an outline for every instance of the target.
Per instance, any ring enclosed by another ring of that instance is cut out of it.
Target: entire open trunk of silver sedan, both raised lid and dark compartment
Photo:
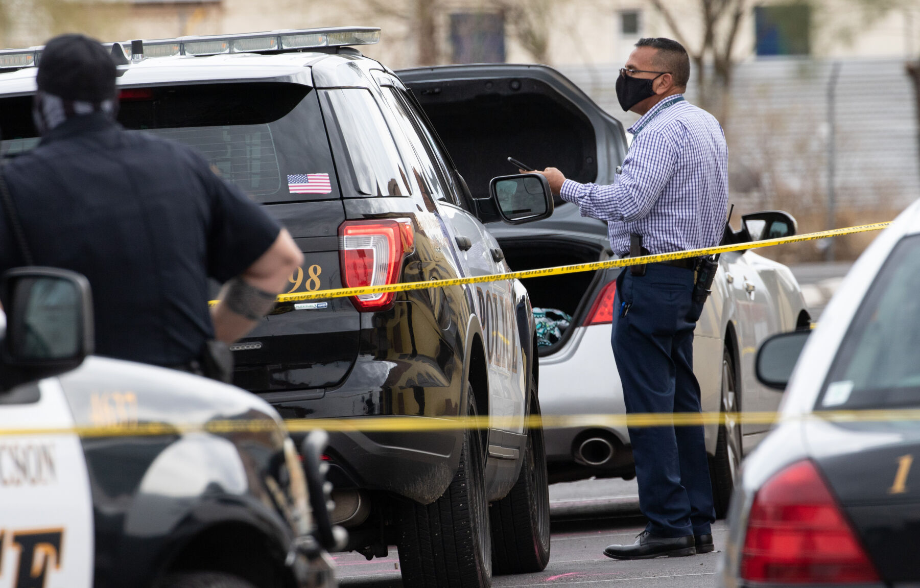
[[[546,65],[486,63],[420,67],[397,75],[412,90],[474,198],[488,198],[489,181],[517,173],[509,156],[539,169],[558,167],[569,179],[613,183],[626,156],[623,125],[578,86]],[[560,205],[561,204],[561,205]],[[527,225],[490,223],[513,271],[609,259],[606,225],[582,218],[557,200],[553,215]],[[580,238],[579,234],[592,236]],[[570,320],[547,340],[541,356],[558,352],[590,310],[606,271],[523,280],[535,308]],[[535,317],[542,317],[539,311]],[[550,344],[547,344],[550,343]]]

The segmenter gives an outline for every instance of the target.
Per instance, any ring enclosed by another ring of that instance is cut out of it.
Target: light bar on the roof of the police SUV
[[[103,43],[118,45],[126,57],[138,61],[146,57],[172,55],[219,55],[221,53],[294,52],[323,47],[372,45],[380,41],[377,27],[330,27],[325,29],[281,29],[237,35],[187,36],[138,42]],[[130,49],[129,49],[130,48]],[[137,50],[143,53],[137,54]],[[35,67],[44,47],[0,51],[0,69]]]

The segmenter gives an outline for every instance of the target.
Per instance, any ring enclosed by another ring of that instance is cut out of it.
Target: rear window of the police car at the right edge
[[[920,236],[891,252],[840,345],[815,409],[920,406]]]

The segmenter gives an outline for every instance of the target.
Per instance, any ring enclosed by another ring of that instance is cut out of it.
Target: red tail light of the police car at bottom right
[[[797,462],[754,495],[741,576],[771,584],[880,582],[818,468]]]

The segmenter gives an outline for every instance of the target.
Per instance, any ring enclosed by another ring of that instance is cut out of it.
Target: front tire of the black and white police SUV
[[[531,390],[530,414],[540,414]],[[549,563],[549,482],[542,427],[527,430],[521,474],[508,495],[489,507],[492,571],[496,574],[544,571]]]

